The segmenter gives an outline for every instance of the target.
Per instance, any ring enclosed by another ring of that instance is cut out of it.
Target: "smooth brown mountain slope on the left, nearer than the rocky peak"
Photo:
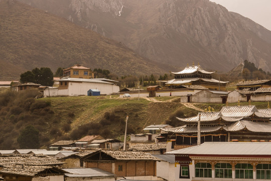
[[[64,2],[64,1],[63,1]],[[108,69],[117,75],[165,73],[175,67],[139,56],[121,42],[14,0],[0,1],[0,80],[35,67]]]

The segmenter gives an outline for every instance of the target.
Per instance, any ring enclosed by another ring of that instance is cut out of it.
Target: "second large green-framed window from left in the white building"
[[[216,163],[215,164],[215,177],[216,178],[232,178],[232,166],[229,163]]]

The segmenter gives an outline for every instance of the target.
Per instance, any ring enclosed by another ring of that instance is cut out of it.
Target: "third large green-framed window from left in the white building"
[[[253,178],[253,166],[249,163],[237,163],[235,178]]]

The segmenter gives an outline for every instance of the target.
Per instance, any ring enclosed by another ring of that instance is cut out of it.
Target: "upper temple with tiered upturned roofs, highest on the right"
[[[226,91],[227,81],[220,81],[212,78],[212,74],[215,73],[203,70],[198,65],[189,66],[179,72],[171,72],[174,74],[174,79],[168,81],[161,81],[165,86],[169,88],[180,88],[183,85],[202,85],[210,90]]]

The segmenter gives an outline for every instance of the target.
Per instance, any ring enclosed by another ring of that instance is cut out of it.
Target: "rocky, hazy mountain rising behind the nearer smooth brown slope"
[[[271,32],[208,0],[20,0],[157,62],[228,71],[245,59],[271,68]],[[253,12],[251,12],[253,13]]]

